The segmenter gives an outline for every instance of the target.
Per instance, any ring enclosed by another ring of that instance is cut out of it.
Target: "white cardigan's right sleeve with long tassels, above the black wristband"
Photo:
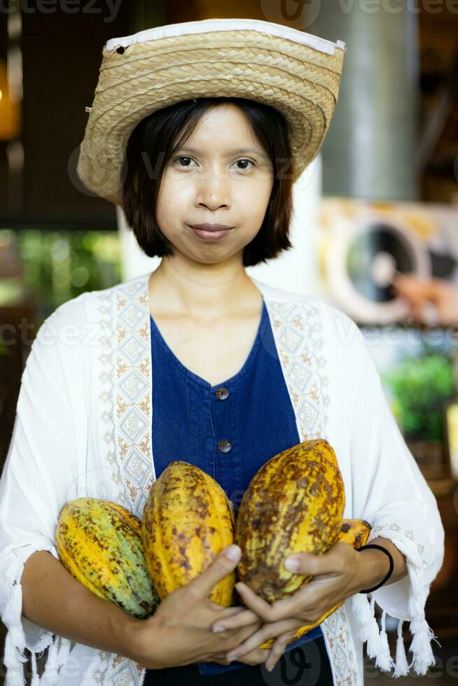
[[[367,641],[369,657],[394,676],[411,667],[426,673],[435,664],[424,608],[431,582],[443,564],[444,528],[436,498],[419,470],[396,423],[380,375],[359,327],[350,319],[353,336],[343,346],[341,402],[349,408],[352,469],[352,511],[372,529],[368,542],[382,536],[404,554],[408,574],[371,594],[354,594],[352,607],[359,620],[359,638]],[[370,596],[370,601],[368,600]],[[374,604],[382,609],[379,633]],[[396,661],[391,659],[386,614],[399,619]],[[403,621],[410,622],[412,662],[407,664]]]

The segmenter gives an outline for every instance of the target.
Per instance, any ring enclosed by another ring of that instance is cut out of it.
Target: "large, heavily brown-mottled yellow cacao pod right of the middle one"
[[[273,603],[310,581],[284,568],[296,552],[319,554],[338,539],[345,487],[335,452],[307,440],[270,458],[254,475],[237,514],[240,581]]]

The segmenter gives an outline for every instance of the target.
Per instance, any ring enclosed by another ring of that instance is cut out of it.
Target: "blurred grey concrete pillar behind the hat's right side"
[[[410,0],[310,0],[305,31],[347,43],[325,195],[417,200],[418,13]],[[418,9],[418,8],[417,8]]]

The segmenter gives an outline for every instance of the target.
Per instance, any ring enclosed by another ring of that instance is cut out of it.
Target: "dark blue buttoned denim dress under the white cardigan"
[[[183,460],[211,475],[232,500],[235,514],[259,468],[300,442],[288,389],[263,300],[256,339],[242,369],[211,386],[188,370],[151,323],[153,455],[156,478],[169,462]],[[286,651],[322,636],[316,626]],[[197,662],[201,674],[240,667]]]

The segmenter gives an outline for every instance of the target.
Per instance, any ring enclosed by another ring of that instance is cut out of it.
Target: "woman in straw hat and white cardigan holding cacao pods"
[[[291,247],[291,185],[326,134],[344,47],[254,20],[159,27],[105,46],[78,174],[122,205],[162,262],[57,308],[32,346],[0,482],[7,684],[22,683],[25,647],[34,676],[49,647],[45,678],[59,686],[359,686],[364,640],[380,668],[408,672],[404,619],[415,671],[433,664],[424,603],[443,527],[361,333],[337,309],[244,269]],[[58,561],[55,524],[73,498],[141,517],[154,479],[180,458],[211,473],[237,509],[266,460],[317,437],[338,456],[344,517],[367,519],[375,547],[300,556],[296,571],[317,578],[289,599],[270,606],[242,584],[243,605],[210,603],[237,566],[235,547],[138,620]],[[396,662],[388,611],[401,620]]]

